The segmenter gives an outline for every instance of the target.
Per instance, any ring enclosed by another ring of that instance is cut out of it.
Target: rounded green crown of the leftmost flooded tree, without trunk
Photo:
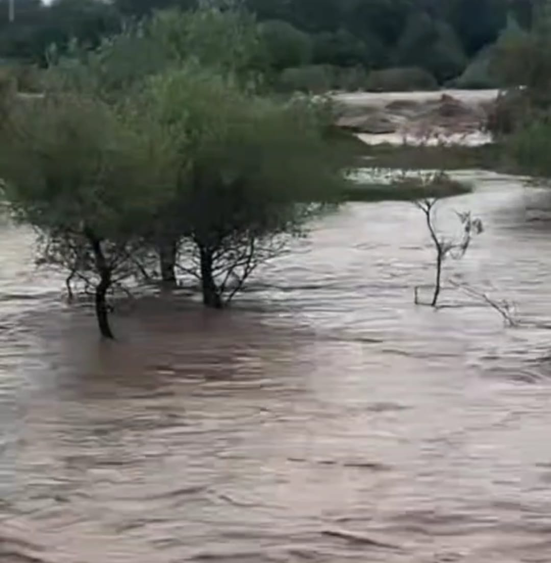
[[[15,100],[2,137],[8,199],[42,229],[127,236],[170,184],[172,151],[157,129],[69,93]]]

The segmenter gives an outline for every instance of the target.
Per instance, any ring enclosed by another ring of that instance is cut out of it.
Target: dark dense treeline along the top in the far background
[[[315,80],[321,65],[362,70],[419,67],[444,83],[458,77],[477,53],[496,41],[508,17],[530,25],[532,3],[537,1],[243,0],[239,5],[263,23],[270,64],[277,72],[310,66],[307,78]],[[46,64],[52,44],[63,51],[76,38],[95,46],[122,30],[128,20],[155,10],[188,10],[198,3],[235,5],[231,0],[15,2],[15,21],[10,23],[8,0],[0,0],[0,58],[39,65]],[[288,78],[293,79],[293,73]]]

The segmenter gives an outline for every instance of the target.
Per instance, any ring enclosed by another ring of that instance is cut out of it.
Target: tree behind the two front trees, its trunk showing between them
[[[221,10],[207,5],[189,12],[165,10],[106,39],[94,51],[81,50],[74,44],[69,56],[57,60],[52,57],[53,64],[47,75],[56,88],[61,85],[64,90],[85,96],[93,92],[111,105],[120,104],[121,99],[128,97],[140,100],[143,91],[151,92],[148,85],[155,75],[169,76],[190,66],[209,69],[208,72],[225,79],[231,77],[235,82],[234,90],[239,87],[253,92],[257,90],[258,73],[263,72],[266,58],[259,41],[256,21],[240,10]],[[181,143],[178,135],[182,131],[176,133],[174,123],[181,124],[189,111],[185,106],[168,109],[167,104],[171,103],[164,100],[163,111],[173,111],[177,118],[162,123],[167,131],[176,135],[173,142],[177,146]],[[216,106],[209,111],[216,113]],[[187,150],[187,145],[185,148]],[[167,211],[167,217],[171,216],[172,210]],[[152,243],[159,255],[160,277],[169,287],[176,283],[178,234],[173,232],[169,220],[163,219],[160,224],[163,227],[154,229],[156,238]]]

